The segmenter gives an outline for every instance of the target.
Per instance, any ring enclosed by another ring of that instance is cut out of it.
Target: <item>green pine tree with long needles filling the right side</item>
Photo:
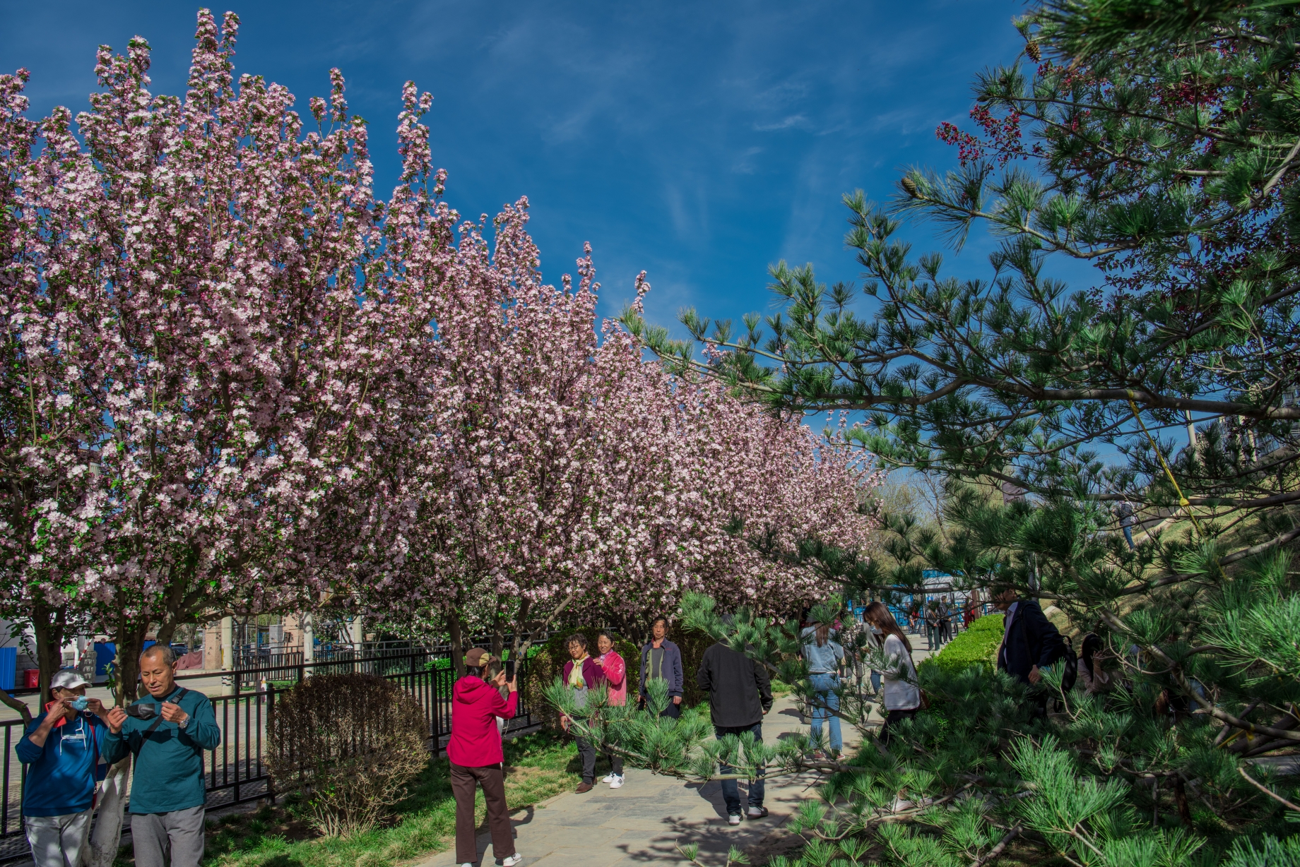
[[[945,480],[942,536],[887,516],[888,567],[827,577],[888,594],[939,567],[958,586],[1014,588],[1058,607],[1075,637],[1097,634],[1109,689],[1065,690],[1049,671],[1056,712],[1039,720],[1005,675],[923,667],[928,712],[888,750],[868,738],[823,763],[806,741],[710,747],[692,742],[696,723],[632,711],[601,737],[633,754],[676,737],[663,757],[682,758],[647,762],[668,772],[716,775],[724,754],[741,773],[758,760],[823,772],[792,825],[811,867],[979,867],[1013,850],[1300,863],[1294,780],[1257,762],[1300,746],[1297,13],[1046,0],[1017,21],[1024,53],[979,77],[979,131],[940,127],[958,168],[910,170],[885,207],[845,196],[868,313],[854,287],[780,263],[784,313],[748,316],[738,334],[686,312],[696,341],[672,342],[624,317],[680,370],[784,411],[867,413],[858,442]],[[894,237],[905,216],[957,247],[975,225],[1000,237],[987,278],[913,256]],[[1053,256],[1095,263],[1097,286],[1050,278]],[[1166,432],[1184,429],[1175,454]],[[1145,529],[1135,546],[1121,503]],[[792,624],[729,614],[686,606],[811,692]],[[848,701],[841,715],[870,734],[863,710]]]

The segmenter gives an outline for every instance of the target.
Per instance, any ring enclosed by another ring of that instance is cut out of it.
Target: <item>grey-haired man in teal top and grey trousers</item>
[[[135,867],[199,867],[203,859],[203,751],[221,744],[212,702],[176,684],[176,654],[153,645],[140,654],[148,695],[108,712],[104,758],[135,754],[131,841]]]

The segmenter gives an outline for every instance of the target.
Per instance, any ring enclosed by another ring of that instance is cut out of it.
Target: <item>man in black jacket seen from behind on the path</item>
[[[772,681],[767,669],[745,654],[738,654],[727,645],[718,642],[705,651],[696,675],[699,689],[708,693],[708,710],[714,720],[714,736],[719,740],[728,734],[740,737],[745,732],[754,736],[754,742],[763,741],[763,715],[772,710]],[[732,772],[729,764],[720,771]],[[727,802],[727,822],[740,824],[740,788],[736,780],[723,780],[723,799]],[[744,815],[762,819],[767,815],[763,806],[763,772],[749,783],[749,810]]]

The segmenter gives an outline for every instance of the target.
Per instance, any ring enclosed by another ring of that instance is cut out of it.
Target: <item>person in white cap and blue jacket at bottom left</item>
[[[96,764],[108,725],[98,698],[86,698],[75,671],[55,675],[47,711],[34,719],[14,751],[27,766],[22,816],[36,867],[78,867],[95,809]]]

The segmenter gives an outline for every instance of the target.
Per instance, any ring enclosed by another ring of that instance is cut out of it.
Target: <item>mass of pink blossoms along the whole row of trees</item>
[[[820,589],[755,538],[867,546],[875,476],[842,437],[646,363],[598,325],[589,250],[542,282],[526,200],[491,224],[442,201],[428,94],[404,90],[377,200],[341,74],[304,122],[237,86],[237,25],[200,13],[183,100],[148,91],[143,40],[101,49],[83,142],[0,77],[10,616],[162,637],[326,589],[399,615],[771,610]]]

